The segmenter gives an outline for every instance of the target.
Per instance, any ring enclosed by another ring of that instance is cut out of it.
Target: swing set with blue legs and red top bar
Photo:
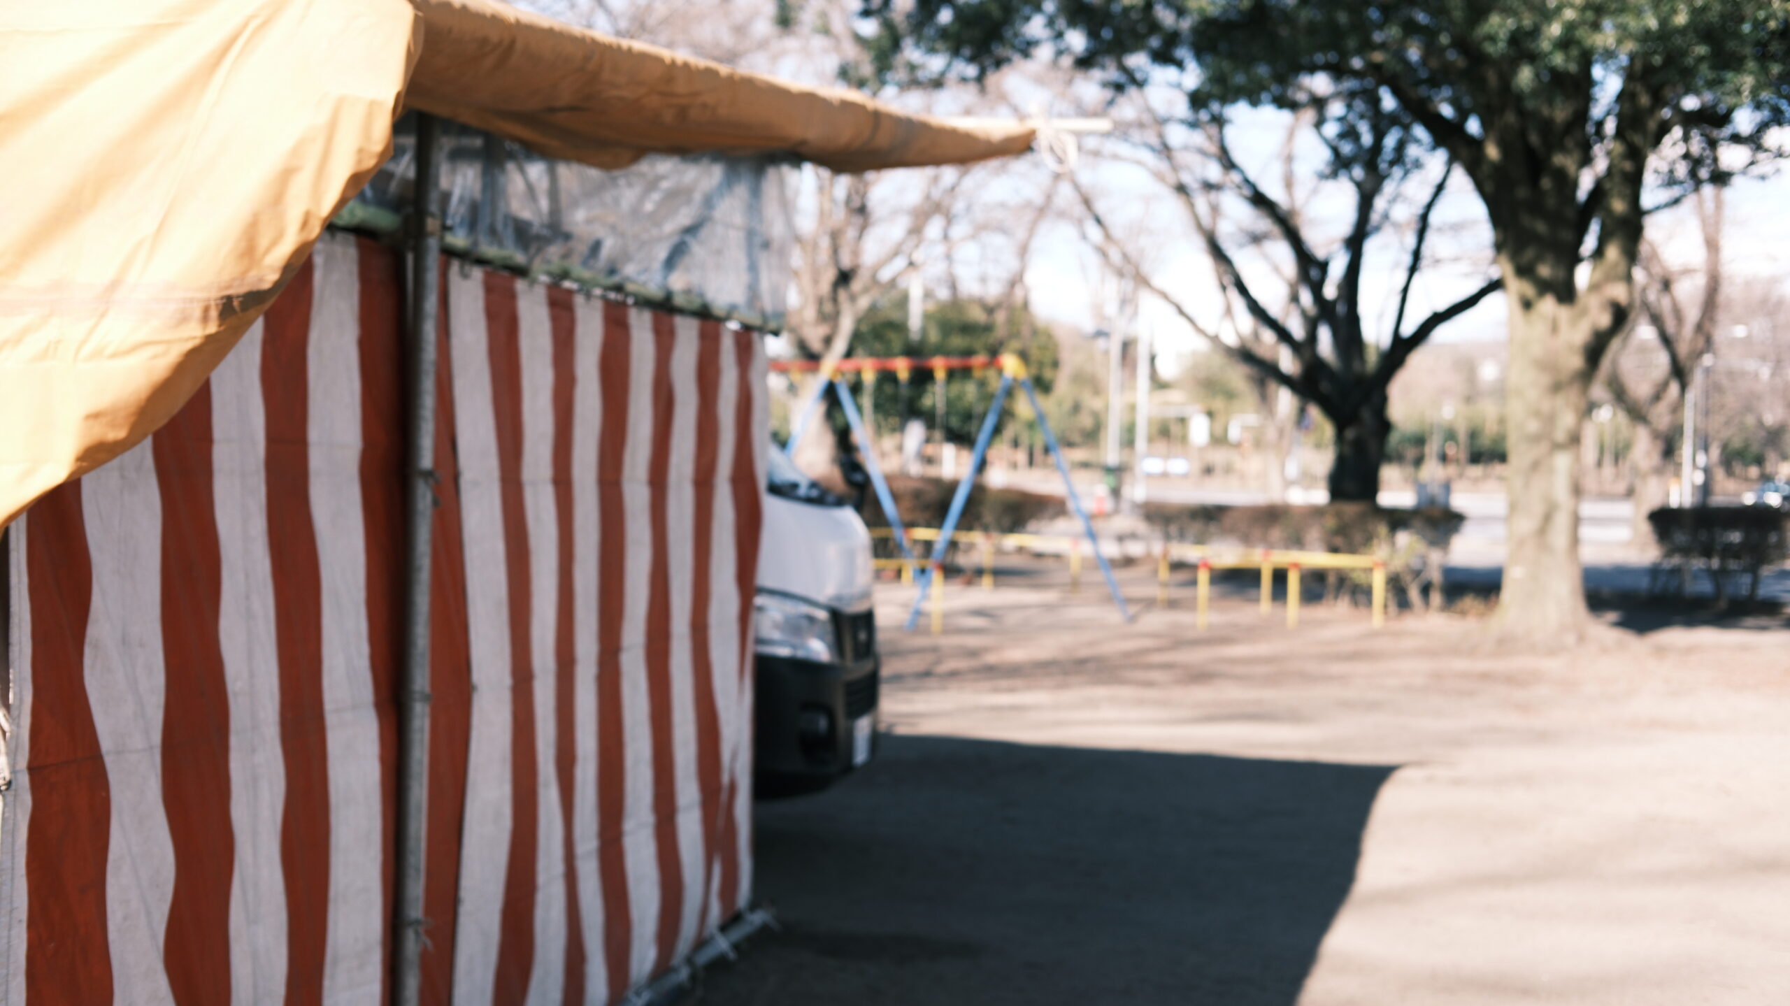
[[[958,490],[950,498],[950,508],[945,512],[945,523],[938,530],[938,539],[933,542],[933,558],[924,566],[918,576],[920,594],[913,600],[913,609],[908,612],[908,628],[915,628],[920,623],[920,610],[925,607],[927,594],[933,591],[933,576],[940,575],[943,569],[945,555],[950,550],[950,539],[958,530],[958,521],[963,517],[963,507],[970,499],[970,490],[976,487],[976,476],[981,473],[983,460],[988,455],[988,444],[993,440],[995,426],[1001,422],[1001,410],[1006,406],[1008,392],[1015,383],[1026,392],[1026,399],[1031,403],[1033,421],[1038,424],[1038,431],[1044,435],[1044,444],[1051,453],[1051,460],[1056,462],[1058,474],[1063,476],[1063,494],[1069,499],[1070,510],[1081,521],[1081,532],[1088,539],[1088,546],[1094,551],[1094,560],[1101,566],[1101,575],[1106,578],[1106,589],[1112,593],[1113,605],[1119,609],[1119,616],[1131,621],[1131,612],[1124,603],[1124,594],[1119,593],[1119,582],[1113,578],[1112,566],[1101,553],[1101,542],[1094,535],[1094,523],[1088,521],[1088,512],[1081,507],[1081,498],[1076,494],[1076,485],[1069,478],[1069,462],[1063,460],[1063,451],[1056,446],[1056,435],[1051,431],[1051,422],[1044,417],[1044,406],[1038,403],[1038,392],[1031,385],[1031,376],[1026,372],[1026,362],[1013,353],[1002,353],[999,356],[856,356],[847,360],[838,360],[831,365],[820,360],[773,360],[771,371],[791,374],[791,372],[818,372],[820,381],[814,385],[814,392],[802,405],[797,413],[795,424],[789,428],[789,442],[784,446],[784,453],[793,453],[795,446],[802,440],[802,431],[807,430],[809,421],[813,421],[814,412],[822,406],[827,392],[840,401],[840,408],[845,412],[845,421],[852,428],[852,435],[865,455],[865,471],[870,474],[870,485],[875,489],[877,503],[882,505],[882,512],[888,516],[890,530],[895,533],[895,544],[900,548],[902,558],[915,564],[913,551],[908,544],[908,530],[902,524],[900,514],[895,512],[895,496],[890,492],[888,480],[882,478],[882,465],[877,464],[875,440],[865,428],[863,415],[857,412],[857,403],[852,401],[850,388],[845,387],[841,374],[861,372],[872,378],[877,372],[895,372],[895,376],[906,385],[909,374],[915,369],[931,369],[933,379],[940,385],[940,394],[943,394],[945,378],[952,371],[974,371],[981,372],[988,367],[1001,369],[1001,385],[995,388],[995,397],[988,405],[988,413],[983,417],[981,430],[976,435],[976,448],[970,451],[968,471],[958,482]]]

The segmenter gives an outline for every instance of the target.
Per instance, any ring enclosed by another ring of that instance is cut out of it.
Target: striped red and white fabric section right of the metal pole
[[[761,483],[716,473],[757,478],[763,351],[496,272],[451,270],[448,319],[471,691],[437,691],[467,770],[431,793],[464,806],[431,995],[614,1001],[737,908],[750,593],[712,542],[755,550]]]

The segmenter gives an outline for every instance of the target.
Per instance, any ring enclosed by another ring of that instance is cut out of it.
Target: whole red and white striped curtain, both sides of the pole
[[[379,1002],[399,256],[331,234],[11,533],[0,997]],[[750,890],[750,331],[448,267],[428,1002],[612,1002]]]

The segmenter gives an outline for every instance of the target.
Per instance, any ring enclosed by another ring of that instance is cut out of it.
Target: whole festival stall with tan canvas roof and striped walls
[[[1029,129],[489,0],[0,32],[0,1002],[616,1002],[725,942],[786,165]]]

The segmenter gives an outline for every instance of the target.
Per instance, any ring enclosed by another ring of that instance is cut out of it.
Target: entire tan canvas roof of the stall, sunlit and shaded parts
[[[490,0],[0,5],[0,524],[186,403],[406,106],[596,166],[721,150],[870,170],[1033,138]]]

